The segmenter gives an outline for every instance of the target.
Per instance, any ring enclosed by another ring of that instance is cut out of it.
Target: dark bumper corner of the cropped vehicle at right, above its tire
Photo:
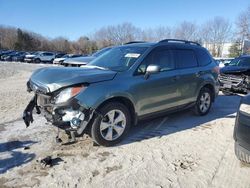
[[[241,147],[250,151],[250,112],[238,112],[234,127],[234,139]]]

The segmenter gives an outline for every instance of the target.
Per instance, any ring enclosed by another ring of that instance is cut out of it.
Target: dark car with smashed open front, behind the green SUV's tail
[[[248,93],[249,78],[250,55],[237,57],[220,69],[220,89],[224,93]]]

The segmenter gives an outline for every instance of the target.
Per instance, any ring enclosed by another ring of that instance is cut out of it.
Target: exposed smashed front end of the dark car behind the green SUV
[[[220,90],[227,93],[248,93],[250,90],[249,77],[247,75],[219,75]]]

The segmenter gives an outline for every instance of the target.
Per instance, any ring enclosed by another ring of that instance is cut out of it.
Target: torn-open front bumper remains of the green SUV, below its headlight
[[[62,104],[53,104],[49,95],[35,93],[23,112],[23,120],[28,127],[33,123],[33,110],[42,114],[52,125],[69,131],[76,131],[79,135],[90,122],[94,110],[80,105],[76,98]]]

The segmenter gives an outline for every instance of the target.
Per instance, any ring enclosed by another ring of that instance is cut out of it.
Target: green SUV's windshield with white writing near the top
[[[103,67],[113,71],[125,71],[146,51],[147,47],[117,47],[100,55],[89,65]]]

